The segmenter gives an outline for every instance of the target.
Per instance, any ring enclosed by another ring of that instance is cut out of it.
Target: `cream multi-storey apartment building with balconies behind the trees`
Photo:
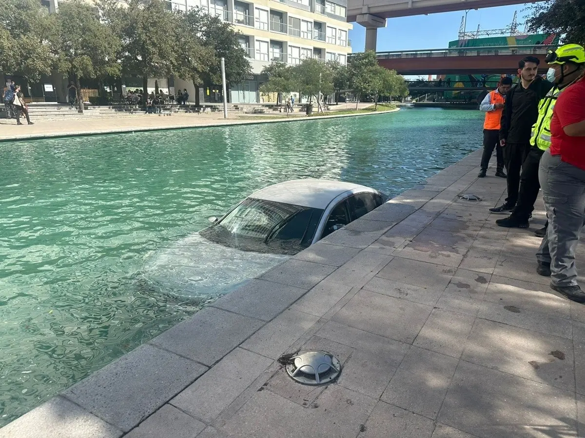
[[[263,102],[258,90],[267,78],[260,72],[272,60],[299,64],[304,58],[316,58],[346,64],[347,55],[352,51],[347,39],[352,29],[346,22],[347,0],[166,1],[169,8],[183,11],[198,6],[233,23],[242,33],[240,44],[246,50],[253,74],[247,81],[230,88],[232,103]],[[179,86],[183,83],[176,82]],[[217,92],[205,89],[205,100],[214,100]]]

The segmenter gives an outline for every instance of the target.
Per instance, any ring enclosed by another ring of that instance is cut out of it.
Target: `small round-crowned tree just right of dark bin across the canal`
[[[306,58],[292,67],[292,74],[301,93],[311,100],[316,98],[318,111],[323,112],[317,96],[331,94],[334,90],[331,66],[315,58]]]

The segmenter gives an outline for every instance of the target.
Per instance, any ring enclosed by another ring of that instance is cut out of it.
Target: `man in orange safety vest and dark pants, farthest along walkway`
[[[504,173],[504,156],[500,146],[500,120],[504,110],[505,96],[512,88],[512,78],[502,78],[498,88],[487,93],[481,101],[479,109],[486,113],[486,120],[483,123],[483,155],[481,155],[481,171],[477,178],[484,178],[487,173],[487,165],[490,164],[492,152],[497,159],[495,176],[506,178]]]

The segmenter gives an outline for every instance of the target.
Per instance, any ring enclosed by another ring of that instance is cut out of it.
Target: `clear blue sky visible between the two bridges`
[[[510,26],[514,11],[518,11],[518,29],[524,30],[525,5],[498,6],[467,13],[467,32],[481,29],[503,29]],[[524,12],[523,12],[524,11]],[[449,41],[457,39],[464,11],[433,13],[412,17],[389,18],[386,27],[378,29],[377,51],[415,50],[425,48],[445,48]],[[349,31],[354,52],[364,50],[366,28],[353,23]]]

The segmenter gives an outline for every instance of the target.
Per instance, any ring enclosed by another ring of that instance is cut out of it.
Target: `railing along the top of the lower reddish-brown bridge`
[[[492,46],[492,47],[452,47],[432,48],[425,50],[398,50],[376,52],[378,59],[395,58],[435,58],[459,56],[489,56],[489,55],[542,55],[557,46]]]

